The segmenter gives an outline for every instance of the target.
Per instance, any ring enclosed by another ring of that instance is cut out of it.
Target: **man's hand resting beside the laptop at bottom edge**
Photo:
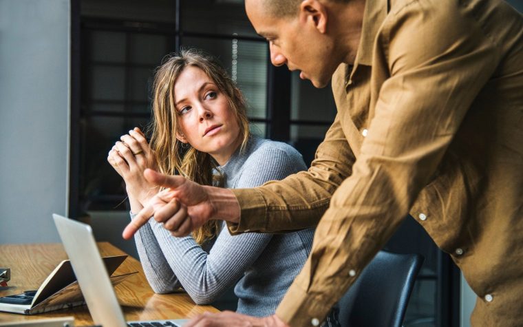
[[[248,315],[224,311],[222,313],[204,313],[191,319],[184,327],[288,327],[277,315],[255,318]]]

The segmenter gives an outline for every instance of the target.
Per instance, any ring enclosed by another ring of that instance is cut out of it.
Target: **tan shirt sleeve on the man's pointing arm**
[[[282,182],[267,182],[264,187],[231,190],[239,202],[241,218],[239,224],[227,223],[229,231],[270,233],[316,226],[332,193],[350,176],[353,162],[354,154],[337,115],[308,171]]]

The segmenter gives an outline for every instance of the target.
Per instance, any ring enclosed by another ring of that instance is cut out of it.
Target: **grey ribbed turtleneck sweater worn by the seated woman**
[[[244,154],[234,154],[219,169],[225,187],[247,188],[283,179],[306,165],[290,145],[253,136]],[[209,304],[236,283],[237,312],[272,315],[309,255],[314,230],[231,236],[223,226],[214,244],[202,248],[190,236],[174,238],[149,220],[135,235],[149,284],[156,293],[183,286],[195,303]]]

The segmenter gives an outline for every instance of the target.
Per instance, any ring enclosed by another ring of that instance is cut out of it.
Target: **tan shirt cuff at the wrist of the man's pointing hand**
[[[266,230],[267,205],[261,192],[257,189],[231,189],[231,191],[233,191],[241,208],[239,222],[227,222],[227,228],[231,235]]]

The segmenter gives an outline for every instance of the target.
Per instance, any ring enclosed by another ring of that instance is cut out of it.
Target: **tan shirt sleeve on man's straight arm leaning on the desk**
[[[321,321],[394,233],[500,61],[491,37],[456,2],[410,1],[389,14],[373,63],[389,76],[352,175],[332,196],[277,309],[290,326]]]

